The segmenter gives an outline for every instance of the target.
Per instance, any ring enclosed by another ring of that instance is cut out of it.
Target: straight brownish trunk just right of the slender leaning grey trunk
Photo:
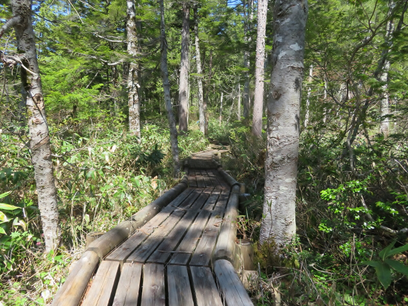
[[[189,60],[190,40],[190,3],[183,2],[183,26],[181,31],[181,60],[180,60],[180,87],[179,87],[179,131],[188,130],[188,77],[190,70]]]

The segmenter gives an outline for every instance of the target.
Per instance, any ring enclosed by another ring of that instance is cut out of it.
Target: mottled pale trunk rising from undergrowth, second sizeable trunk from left
[[[140,103],[137,92],[137,35],[136,35],[136,13],[134,0],[127,0],[127,51],[130,59],[129,74],[127,80],[128,105],[129,105],[129,132],[140,138]]]

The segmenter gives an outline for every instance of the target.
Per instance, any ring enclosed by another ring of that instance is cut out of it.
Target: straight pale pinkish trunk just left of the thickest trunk
[[[255,97],[252,117],[252,133],[262,136],[262,111],[264,99],[264,65],[265,65],[265,33],[268,0],[258,0],[258,32],[256,39],[255,59]]]

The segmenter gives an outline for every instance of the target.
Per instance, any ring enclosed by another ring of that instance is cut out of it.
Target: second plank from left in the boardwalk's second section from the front
[[[163,238],[173,229],[185,214],[184,210],[178,210],[172,213],[161,225],[141,244],[129,257],[127,262],[144,263],[154,252],[157,246],[163,241]]]

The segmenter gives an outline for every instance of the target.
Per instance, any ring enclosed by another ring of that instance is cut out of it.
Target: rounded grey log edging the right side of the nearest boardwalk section
[[[217,260],[214,265],[214,271],[222,296],[228,306],[253,305],[233,265],[228,260]]]

